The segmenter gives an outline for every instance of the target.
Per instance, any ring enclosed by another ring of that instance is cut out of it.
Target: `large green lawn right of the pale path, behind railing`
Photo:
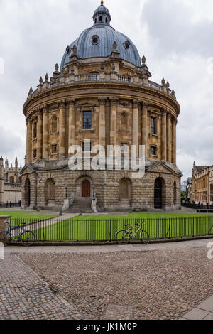
[[[146,220],[143,225],[151,239],[190,237],[213,234],[213,215],[141,214],[119,216],[81,216],[35,230],[38,240],[45,241],[107,241],[115,240],[116,232],[125,224]],[[137,235],[139,239],[139,234]]]

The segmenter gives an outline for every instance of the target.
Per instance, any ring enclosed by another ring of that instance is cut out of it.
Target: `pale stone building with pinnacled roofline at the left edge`
[[[9,167],[8,159],[0,158],[0,205],[6,203],[18,203],[21,200],[21,166],[18,167],[16,158],[15,166]]]

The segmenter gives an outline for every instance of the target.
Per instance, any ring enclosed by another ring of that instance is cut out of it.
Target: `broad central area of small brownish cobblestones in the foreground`
[[[19,254],[87,319],[180,319],[213,293],[205,247]],[[208,311],[209,313],[210,311]]]

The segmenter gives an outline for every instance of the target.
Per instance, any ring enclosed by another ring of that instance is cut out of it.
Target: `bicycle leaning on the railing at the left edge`
[[[8,229],[0,233],[0,242],[2,242],[4,246],[8,246],[11,243],[12,239],[21,242],[23,246],[32,246],[34,244],[35,235],[32,231],[25,230],[24,226],[26,225],[26,223],[13,227],[14,229],[21,227],[21,231],[19,232],[18,237],[16,237],[16,235],[13,235],[13,233],[11,232],[11,223],[7,222],[7,224],[9,225]]]

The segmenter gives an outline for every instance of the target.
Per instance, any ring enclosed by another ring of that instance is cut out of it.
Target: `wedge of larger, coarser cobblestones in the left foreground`
[[[82,319],[62,296],[15,255],[0,259],[0,320]]]

